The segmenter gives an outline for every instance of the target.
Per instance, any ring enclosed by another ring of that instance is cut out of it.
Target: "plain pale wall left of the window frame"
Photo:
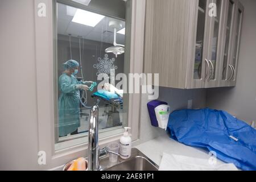
[[[38,122],[34,1],[1,0],[0,24],[0,170],[35,169]]]

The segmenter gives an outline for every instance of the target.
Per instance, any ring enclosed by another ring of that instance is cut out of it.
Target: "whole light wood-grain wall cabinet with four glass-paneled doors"
[[[191,89],[236,84],[241,3],[237,0],[161,0],[160,3],[147,0],[146,3],[144,72],[159,73],[159,86]]]

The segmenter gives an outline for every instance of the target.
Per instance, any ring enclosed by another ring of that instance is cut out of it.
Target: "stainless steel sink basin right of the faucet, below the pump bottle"
[[[137,148],[132,148],[130,159],[119,158],[117,163],[110,163],[109,158],[103,158],[100,166],[104,171],[158,171],[159,168]]]

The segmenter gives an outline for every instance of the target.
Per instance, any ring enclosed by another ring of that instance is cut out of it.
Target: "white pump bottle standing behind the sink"
[[[120,157],[122,159],[129,159],[131,156],[131,137],[128,133],[130,127],[125,127],[125,133],[120,138]]]

